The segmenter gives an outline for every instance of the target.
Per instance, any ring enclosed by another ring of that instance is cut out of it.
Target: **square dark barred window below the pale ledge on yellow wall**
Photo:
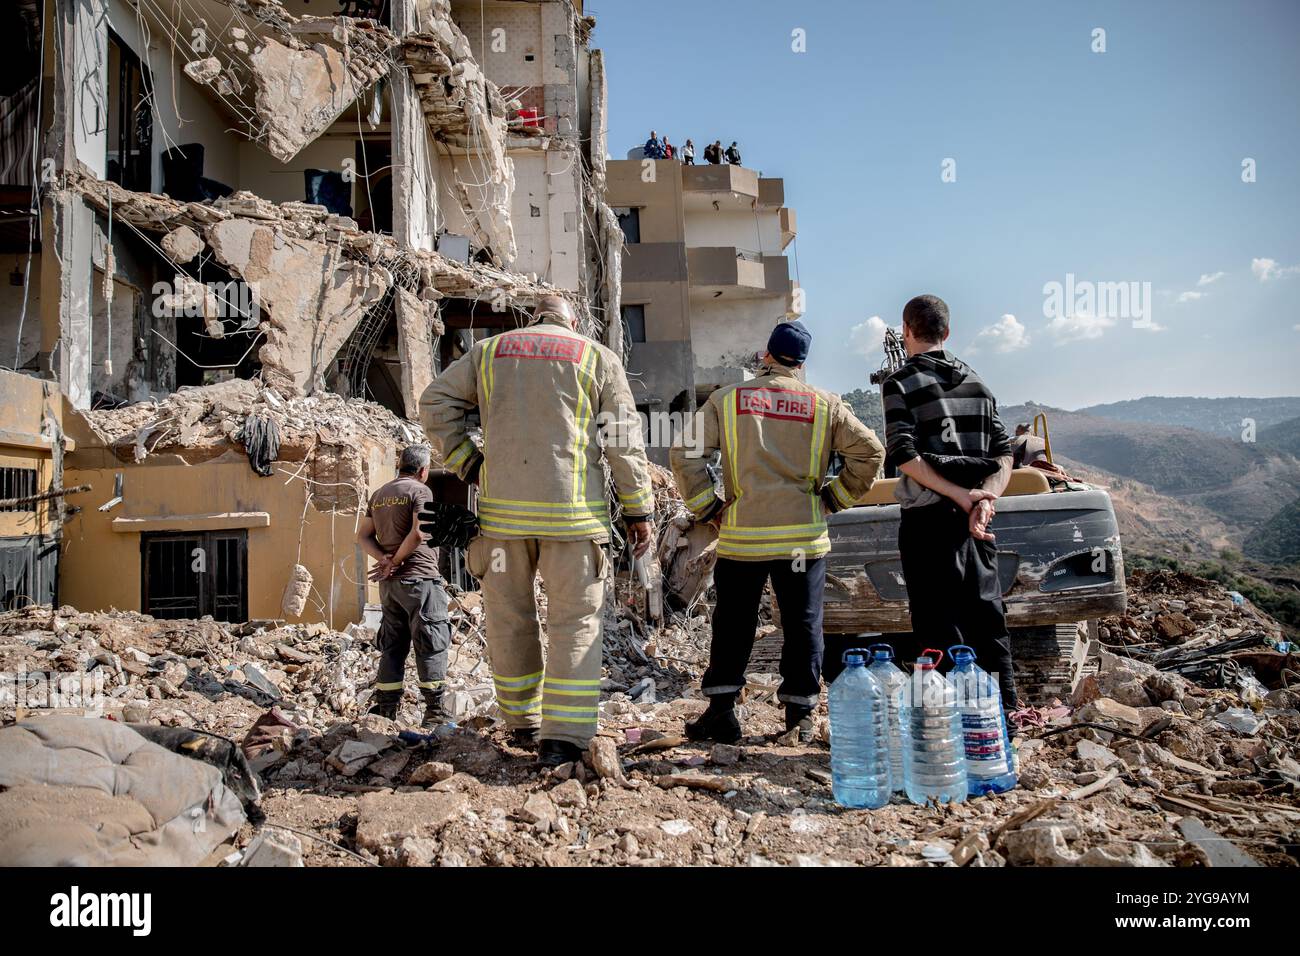
[[[146,614],[155,618],[248,619],[248,532],[157,532],[140,536]]]

